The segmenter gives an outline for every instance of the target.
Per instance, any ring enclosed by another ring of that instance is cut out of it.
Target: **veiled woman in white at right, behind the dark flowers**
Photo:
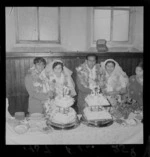
[[[128,76],[113,59],[107,59],[101,63],[105,72],[104,82],[105,88],[103,92],[106,95],[116,96],[127,92]]]

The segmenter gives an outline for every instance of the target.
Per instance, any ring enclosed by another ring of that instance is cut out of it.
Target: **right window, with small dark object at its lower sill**
[[[93,18],[93,41],[129,42],[130,7],[96,7]]]

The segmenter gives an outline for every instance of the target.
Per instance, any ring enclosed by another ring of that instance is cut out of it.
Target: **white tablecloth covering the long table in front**
[[[72,130],[53,130],[17,134],[6,122],[6,144],[143,144],[143,124],[121,126],[113,123],[108,127],[88,127],[80,124]]]

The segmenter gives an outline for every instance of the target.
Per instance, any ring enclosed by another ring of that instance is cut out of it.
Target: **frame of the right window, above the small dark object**
[[[133,32],[133,23],[132,23],[132,12],[134,11],[135,7],[129,7],[129,8],[122,8],[122,7],[93,7],[92,11],[92,44],[96,44],[96,40],[94,40],[94,13],[95,9],[102,9],[102,10],[111,10],[111,26],[110,26],[110,41],[107,41],[108,44],[131,44],[132,43],[132,32]],[[128,31],[128,40],[127,41],[112,41],[113,39],[113,10],[127,10],[129,11],[129,31]]]

